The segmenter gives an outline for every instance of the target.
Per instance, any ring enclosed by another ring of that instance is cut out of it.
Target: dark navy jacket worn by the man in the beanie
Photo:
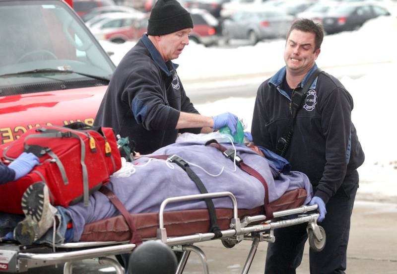
[[[148,154],[175,142],[180,111],[199,113],[186,96],[176,73],[164,62],[146,35],[117,66],[99,107],[94,125],[111,127],[135,141]],[[184,132],[199,133],[201,128]]]

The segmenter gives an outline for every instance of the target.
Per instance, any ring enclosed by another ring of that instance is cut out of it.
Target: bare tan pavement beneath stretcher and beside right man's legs
[[[356,201],[348,245],[348,274],[397,274],[397,203]],[[277,241],[277,239],[276,239]],[[241,273],[251,242],[226,249],[220,241],[196,244],[208,262],[210,274]],[[249,274],[263,274],[267,244],[260,243]],[[184,274],[203,273],[199,257],[191,254]],[[309,246],[297,274],[309,273]]]

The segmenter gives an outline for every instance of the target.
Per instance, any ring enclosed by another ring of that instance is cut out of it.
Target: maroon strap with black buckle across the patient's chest
[[[240,167],[243,171],[247,172],[251,176],[254,176],[262,183],[262,185],[265,188],[264,207],[265,207],[266,220],[272,219],[273,218],[273,210],[270,208],[270,206],[268,206],[269,205],[269,189],[267,187],[265,178],[258,171],[256,171],[255,169],[253,169],[252,167],[250,167],[249,165],[244,163],[243,159],[239,155],[235,155],[233,148],[227,149],[226,147],[224,147],[223,145],[218,143],[215,139],[207,141],[205,143],[205,145],[210,145],[210,146],[215,147],[216,149],[221,151],[223,153],[223,155],[225,155],[226,158],[229,158],[230,160],[232,160],[232,162],[234,162],[236,160],[236,165],[238,167]]]

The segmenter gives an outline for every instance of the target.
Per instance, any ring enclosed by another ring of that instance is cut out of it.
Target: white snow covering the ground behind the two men
[[[101,44],[105,50],[114,52],[115,64],[134,45],[133,42]],[[284,66],[284,44],[284,40],[273,40],[256,46],[225,49],[190,43],[174,61],[180,65],[178,74],[182,82],[224,78],[230,85],[233,79],[239,81],[244,75],[274,73]],[[396,44],[397,18],[380,17],[368,21],[358,31],[325,36],[317,60],[322,69],[338,73],[353,96],[352,120],[366,154],[365,163],[359,168],[358,197],[363,199],[397,201]],[[350,65],[358,66],[352,71]],[[354,74],[359,77],[342,76]],[[189,95],[189,90],[187,93]],[[203,115],[233,112],[242,117],[250,129],[254,102],[253,97],[225,98],[196,105],[196,108]]]

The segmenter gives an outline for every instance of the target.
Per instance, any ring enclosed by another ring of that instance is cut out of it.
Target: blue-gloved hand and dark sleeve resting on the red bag
[[[8,166],[0,162],[0,185],[18,180],[28,174],[32,168],[39,164],[39,158],[33,153],[23,152]]]

